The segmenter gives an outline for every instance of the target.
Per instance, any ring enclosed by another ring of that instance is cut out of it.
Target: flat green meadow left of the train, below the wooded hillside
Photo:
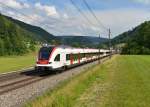
[[[36,54],[30,53],[23,56],[0,57],[0,73],[6,73],[31,67],[36,62]]]

